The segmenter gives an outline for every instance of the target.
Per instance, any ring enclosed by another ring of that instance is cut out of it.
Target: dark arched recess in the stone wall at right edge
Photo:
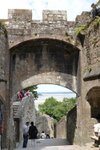
[[[100,114],[100,86],[92,87],[88,91],[86,99],[90,104],[91,118],[96,118]]]

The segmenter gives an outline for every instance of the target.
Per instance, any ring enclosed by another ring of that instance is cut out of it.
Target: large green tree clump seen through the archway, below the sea
[[[45,100],[43,104],[39,105],[39,111],[45,113],[55,120],[59,121],[66,115],[76,104],[75,98],[64,98],[63,101],[58,101],[53,97]]]

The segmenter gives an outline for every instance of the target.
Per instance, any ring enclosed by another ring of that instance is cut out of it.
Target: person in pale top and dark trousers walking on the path
[[[26,122],[26,124],[23,126],[23,148],[27,147],[29,135],[28,132],[29,132],[29,122]]]

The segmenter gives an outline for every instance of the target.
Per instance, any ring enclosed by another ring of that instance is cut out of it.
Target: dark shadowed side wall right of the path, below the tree
[[[75,138],[75,129],[76,129],[76,120],[77,120],[77,113],[76,113],[76,106],[69,111],[67,114],[67,140],[69,144],[73,144]]]

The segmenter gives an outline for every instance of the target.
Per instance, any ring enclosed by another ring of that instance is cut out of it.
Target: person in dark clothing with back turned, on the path
[[[29,139],[33,140],[35,145],[35,139],[37,139],[38,130],[36,126],[34,125],[34,122],[31,122],[31,125],[29,127]]]

